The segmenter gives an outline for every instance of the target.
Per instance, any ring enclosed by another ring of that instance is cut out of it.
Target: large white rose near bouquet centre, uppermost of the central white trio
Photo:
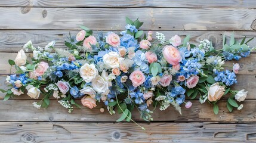
[[[108,54],[103,56],[103,62],[107,68],[114,69],[119,67],[119,55],[117,52],[109,52]]]

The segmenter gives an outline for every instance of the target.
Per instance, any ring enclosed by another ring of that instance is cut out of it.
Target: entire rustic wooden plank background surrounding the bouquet
[[[168,38],[190,34],[193,43],[210,39],[221,48],[223,34],[256,36],[255,8],[255,0],[1,0],[0,88],[6,86],[3,75],[10,73],[8,59],[15,58],[24,43],[32,40],[35,46],[44,46],[56,40],[61,48],[69,32],[78,32],[77,24],[122,30],[125,16],[139,17],[143,30],[161,31]],[[193,108],[183,108],[182,116],[173,108],[156,110],[150,123],[135,112],[133,119],[146,128],[141,130],[134,123],[115,123],[119,115],[100,113],[103,105],[69,114],[54,99],[47,110],[37,110],[35,100],[23,95],[0,100],[0,142],[256,142],[256,54],[238,63],[241,70],[233,88],[249,91],[242,111],[229,113],[223,99],[214,115],[210,105],[192,100]]]

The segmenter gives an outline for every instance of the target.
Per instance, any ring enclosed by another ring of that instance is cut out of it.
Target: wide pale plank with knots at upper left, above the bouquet
[[[253,30],[256,25],[255,10],[237,8],[1,7],[0,13],[0,29],[79,29],[78,24],[84,24],[95,30],[119,30],[125,16],[140,17],[146,30]]]

